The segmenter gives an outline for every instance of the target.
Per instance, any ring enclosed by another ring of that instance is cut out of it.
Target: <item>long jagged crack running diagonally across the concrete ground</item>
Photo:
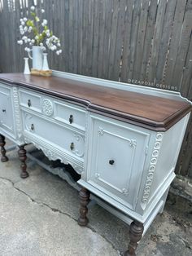
[[[59,214],[66,215],[66,216],[68,216],[69,218],[72,218],[74,221],[77,221],[77,219],[74,218],[74,217],[72,217],[72,215],[67,214],[67,213],[65,213],[65,212],[63,212],[63,211],[61,211],[61,210],[59,210],[59,209],[55,209],[55,208],[51,207],[50,205],[47,205],[47,204],[44,203],[44,202],[36,201],[36,200],[33,199],[31,196],[29,196],[26,192],[24,192],[23,190],[21,190],[20,188],[16,188],[16,187],[15,187],[15,183],[19,183],[20,181],[17,181],[17,182],[14,183],[11,179],[7,179],[7,178],[1,177],[1,176],[0,176],[0,179],[2,179],[2,180],[7,180],[8,182],[10,182],[10,183],[12,184],[12,187],[15,188],[15,190],[17,190],[18,192],[23,193],[25,196],[28,196],[29,200],[32,201],[33,203],[36,203],[37,205],[39,205],[39,206],[41,206],[41,207],[42,207],[42,206],[46,206],[47,208],[49,208],[49,209],[52,210],[53,212],[58,212]],[[94,227],[91,227],[89,224],[88,224],[86,227],[89,228],[92,232],[97,233],[97,231],[94,229]],[[113,249],[116,249],[115,245],[113,245],[113,244],[111,243],[111,241],[109,241],[105,236],[103,236],[102,234],[99,234],[99,236],[102,236],[103,239],[104,239],[105,241],[107,241],[107,243],[109,243],[109,244],[112,246]],[[118,255],[122,255],[122,252],[121,252],[121,251],[119,251],[118,249],[116,249],[116,251],[117,251]]]

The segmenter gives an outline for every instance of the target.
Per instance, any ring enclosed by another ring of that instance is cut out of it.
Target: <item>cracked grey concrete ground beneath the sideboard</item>
[[[129,227],[98,205],[89,209],[88,227],[77,224],[78,192],[28,160],[20,179],[17,151],[0,162],[0,256],[120,255]],[[192,255],[192,205],[170,196],[137,248],[137,255]]]

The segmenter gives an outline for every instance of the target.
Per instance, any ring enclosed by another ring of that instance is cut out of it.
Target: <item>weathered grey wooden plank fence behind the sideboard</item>
[[[20,18],[33,0],[0,0],[0,70],[22,72]],[[181,91],[192,99],[190,0],[37,0],[62,42],[50,68]],[[192,121],[177,173],[192,177]]]

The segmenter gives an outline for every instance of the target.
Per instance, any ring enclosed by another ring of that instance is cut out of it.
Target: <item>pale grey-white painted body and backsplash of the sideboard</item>
[[[68,73],[54,75],[90,86],[182,100],[176,92]],[[165,132],[156,132],[35,90],[0,84],[0,133],[18,144],[33,143],[50,160],[71,164],[81,174],[78,183],[100,205],[126,223],[132,219],[144,223],[145,232],[164,208],[189,116]]]

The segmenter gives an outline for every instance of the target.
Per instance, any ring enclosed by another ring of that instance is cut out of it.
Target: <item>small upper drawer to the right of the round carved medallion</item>
[[[55,102],[55,119],[85,130],[85,110],[81,107]]]

